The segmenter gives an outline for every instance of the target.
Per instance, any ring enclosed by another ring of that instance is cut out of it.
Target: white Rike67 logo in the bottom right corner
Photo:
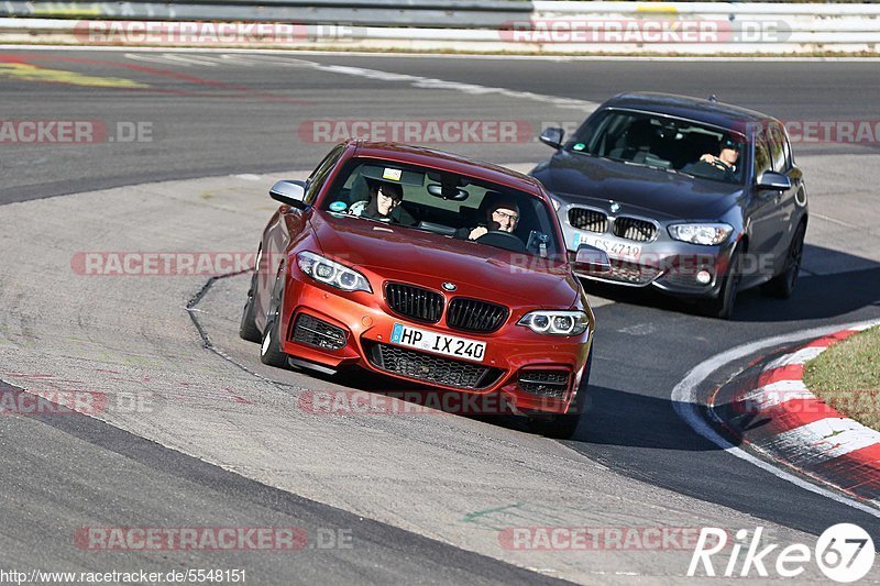
[[[826,529],[815,550],[803,543],[779,549],[779,543],[762,543],[763,528],[755,529],[751,537],[747,529],[736,532],[730,556],[724,560],[713,556],[727,546],[728,533],[724,529],[704,527],[700,532],[696,549],[688,567],[689,576],[706,575],[725,577],[769,577],[769,571],[783,578],[794,578],[815,560],[822,573],[838,583],[856,582],[865,577],[873,566],[873,540],[857,524],[838,523]],[[721,562],[717,570],[713,562]],[[700,566],[702,565],[702,572]]]

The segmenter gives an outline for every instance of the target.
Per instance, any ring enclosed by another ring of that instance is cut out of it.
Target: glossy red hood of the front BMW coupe
[[[324,211],[310,224],[323,254],[386,279],[431,289],[449,281],[455,295],[536,308],[570,308],[580,291],[563,263]]]

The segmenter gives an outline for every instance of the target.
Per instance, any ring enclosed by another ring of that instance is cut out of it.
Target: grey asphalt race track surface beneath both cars
[[[0,385],[110,397],[95,418],[0,418],[2,568],[243,568],[253,584],[678,583],[691,549],[521,551],[505,530],[761,526],[779,543],[813,543],[851,522],[880,539],[876,506],[734,457],[671,398],[730,347],[880,318],[880,136],[794,144],[813,217],[791,300],[747,291],[723,322],[588,286],[594,372],[574,441],[508,419],[310,412],[304,394],[384,383],[263,366],[238,338],[246,275],[96,277],[73,262],[89,251],[253,252],[271,183],[330,148],[321,121],[514,121],[529,131],[515,141],[433,146],[527,170],[550,153],[534,140],[542,126],[571,128],[631,89],[716,93],[787,121],[872,120],[880,63],[0,49],[0,121],[92,131],[79,144],[0,141]],[[142,408],[127,407],[132,397]],[[75,538],[90,527],[295,527],[309,545],[96,551]],[[321,535],[332,535],[323,548]]]

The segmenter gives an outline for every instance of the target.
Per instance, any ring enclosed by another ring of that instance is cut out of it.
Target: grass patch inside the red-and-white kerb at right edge
[[[804,383],[839,412],[880,430],[880,325],[853,334],[806,363]]]

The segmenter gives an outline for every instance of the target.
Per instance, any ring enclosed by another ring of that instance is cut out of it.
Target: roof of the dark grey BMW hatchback
[[[654,91],[618,93],[609,98],[601,108],[629,108],[656,112],[726,129],[741,129],[744,124],[749,122],[778,122],[773,117],[748,108],[690,96]]]

